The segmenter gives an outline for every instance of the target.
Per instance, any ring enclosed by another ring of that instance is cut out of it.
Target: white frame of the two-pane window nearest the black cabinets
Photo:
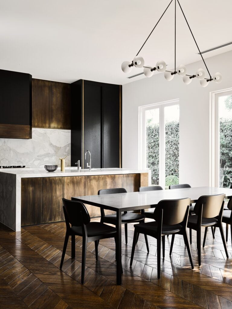
[[[179,99],[139,106],[139,169],[148,169],[146,154],[145,111],[159,108],[159,185],[165,188],[165,112],[164,108],[179,105]]]

